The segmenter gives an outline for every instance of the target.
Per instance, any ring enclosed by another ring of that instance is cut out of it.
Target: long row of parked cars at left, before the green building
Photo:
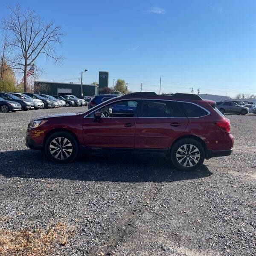
[[[0,111],[15,112],[40,108],[82,107],[87,106],[91,98],[86,96],[56,95],[36,93],[2,93],[0,92]]]

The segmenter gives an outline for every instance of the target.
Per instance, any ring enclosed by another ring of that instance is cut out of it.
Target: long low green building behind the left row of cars
[[[35,81],[34,91],[48,95],[71,94],[81,96],[81,84]],[[99,86],[83,84],[82,93],[84,96],[96,95],[99,93]]]

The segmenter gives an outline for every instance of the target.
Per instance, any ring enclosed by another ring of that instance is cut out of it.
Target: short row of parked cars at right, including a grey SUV
[[[239,100],[223,100],[216,102],[216,107],[221,113],[236,113],[238,115],[246,115],[248,113],[256,114],[256,105],[245,104]]]

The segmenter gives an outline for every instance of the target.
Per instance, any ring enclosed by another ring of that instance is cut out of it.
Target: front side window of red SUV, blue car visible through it
[[[137,110],[137,101],[124,100],[120,102],[112,102],[111,104],[100,108],[92,113],[89,117],[93,117],[94,113],[100,111],[101,117],[134,117]]]

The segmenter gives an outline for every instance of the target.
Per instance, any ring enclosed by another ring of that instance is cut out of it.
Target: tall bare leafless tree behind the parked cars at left
[[[3,30],[8,32],[10,45],[15,51],[10,62],[24,73],[24,91],[28,91],[26,73],[36,58],[44,54],[46,58],[60,63],[63,59],[55,51],[56,44],[62,44],[64,32],[54,21],[46,22],[31,9],[23,11],[20,5],[8,7],[10,14],[3,18]]]

